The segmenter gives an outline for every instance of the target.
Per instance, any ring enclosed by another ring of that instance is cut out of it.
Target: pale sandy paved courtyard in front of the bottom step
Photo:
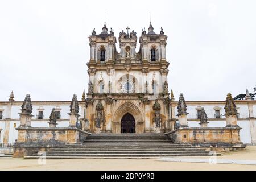
[[[0,158],[0,170],[256,170],[256,146],[245,150],[225,152],[217,156],[217,161],[251,164],[209,164],[209,157],[185,157],[184,161],[170,162],[159,159],[47,159],[46,164],[39,160],[22,158]],[[180,159],[180,158],[179,158]],[[206,163],[204,163],[206,161]]]

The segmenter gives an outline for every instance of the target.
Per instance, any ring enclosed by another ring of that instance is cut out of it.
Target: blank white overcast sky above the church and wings
[[[256,1],[0,0],[0,101],[81,99],[93,27],[164,28],[176,100],[225,100],[256,85]],[[117,39],[118,40],[118,39]],[[119,44],[117,44],[119,51]],[[137,50],[139,44],[137,44]]]

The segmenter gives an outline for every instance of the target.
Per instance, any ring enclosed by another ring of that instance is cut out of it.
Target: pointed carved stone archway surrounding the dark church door
[[[141,107],[130,101],[120,105],[118,109],[114,111],[112,117],[112,133],[121,133],[121,119],[126,113],[130,113],[131,115],[133,115],[135,119],[136,133],[144,133],[144,112]]]

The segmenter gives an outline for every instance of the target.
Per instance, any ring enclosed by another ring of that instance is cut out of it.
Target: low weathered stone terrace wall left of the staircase
[[[68,128],[18,128],[18,141],[14,144],[14,157],[32,155],[51,147],[79,144],[90,135],[76,127]]]

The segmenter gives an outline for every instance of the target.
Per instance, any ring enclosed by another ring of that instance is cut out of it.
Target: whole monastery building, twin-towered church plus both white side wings
[[[228,119],[225,117],[225,101],[185,102],[185,96],[181,95],[180,102],[177,102],[172,90],[169,92],[167,36],[162,28],[157,34],[150,23],[148,31],[143,29],[138,39],[137,33],[127,27],[118,36],[120,52],[116,48],[117,38],[112,29],[108,31],[106,24],[100,34],[93,30],[89,41],[88,90],[76,102],[76,112],[73,115],[78,120],[76,125],[75,120],[72,120],[72,127],[79,127],[89,133],[172,135],[172,131],[184,122],[187,126],[182,127],[196,128],[201,125],[208,129],[222,127],[221,130],[224,130]],[[135,51],[137,46],[139,52]],[[49,127],[48,123],[52,125],[50,116],[54,109],[57,122],[57,126],[54,126],[59,129],[70,127],[70,104],[71,101],[32,100],[29,125],[38,130]],[[0,102],[0,143],[14,143],[18,139],[16,128],[22,125],[22,105],[24,102],[14,101],[13,93],[9,101]],[[183,111],[180,111],[180,107],[184,107]],[[242,128],[237,129],[240,130],[241,141],[255,144],[256,101],[248,97],[245,101],[236,101],[236,106],[234,103],[230,105],[231,109],[233,107],[236,109],[233,115],[236,115],[237,125]],[[186,115],[185,120],[182,115]]]

